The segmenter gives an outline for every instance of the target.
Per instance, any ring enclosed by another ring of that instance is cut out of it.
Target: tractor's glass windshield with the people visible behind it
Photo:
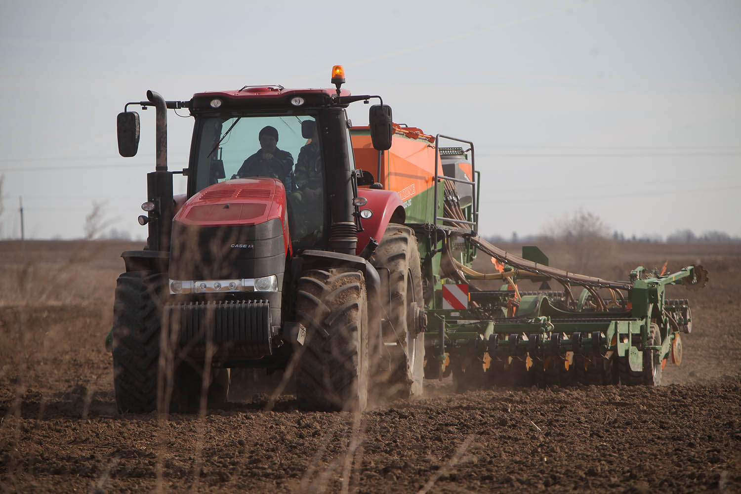
[[[211,117],[197,128],[193,192],[234,178],[276,178],[285,187],[295,247],[322,238],[324,166],[313,116]]]

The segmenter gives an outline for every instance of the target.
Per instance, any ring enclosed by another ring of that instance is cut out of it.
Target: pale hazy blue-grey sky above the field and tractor
[[[154,113],[139,155],[121,158],[125,102],[323,87],[333,64],[396,121],[475,142],[485,235],[582,208],[628,236],[741,236],[738,0],[6,1],[0,48],[0,238],[20,235],[19,196],[29,238],[82,236],[93,201],[146,236]],[[169,125],[179,169],[192,119]]]

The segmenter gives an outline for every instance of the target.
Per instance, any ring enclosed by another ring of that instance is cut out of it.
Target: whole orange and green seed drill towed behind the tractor
[[[691,310],[688,300],[667,298],[666,287],[705,286],[708,277],[701,266],[671,274],[637,267],[630,281],[608,281],[550,267],[538,247],[522,247],[522,256],[514,256],[478,236],[481,176],[473,142],[428,136],[397,124],[393,139],[395,144],[422,141],[437,151],[434,163],[428,163],[433,201],[427,204],[432,207],[429,212],[419,208],[422,221],[405,222],[416,233],[425,278],[425,377],[453,373],[459,387],[577,381],[657,385],[668,358],[674,364],[682,361],[680,334],[691,332]],[[442,139],[468,149],[440,147]],[[358,144],[356,154],[362,149]],[[406,158],[397,157],[400,167],[395,169],[393,150],[392,145],[385,169],[379,159],[377,172],[373,170],[391,190],[398,189],[394,175],[413,175],[405,167]],[[358,161],[358,167],[371,170],[371,162]],[[416,170],[425,167],[417,165]],[[462,201],[462,195],[468,200]],[[408,211],[413,201],[411,197],[405,202]],[[496,259],[500,272],[472,270],[479,252]],[[479,290],[476,280],[482,279],[504,284],[499,290]],[[545,290],[520,292],[517,283],[522,280],[542,282]],[[563,290],[550,290],[548,281],[559,282]],[[575,287],[582,287],[578,296]]]

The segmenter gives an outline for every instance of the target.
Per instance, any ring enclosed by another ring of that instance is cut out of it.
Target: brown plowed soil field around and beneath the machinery
[[[8,492],[741,492],[741,247],[621,243],[588,273],[700,261],[684,360],[659,387],[551,387],[307,413],[256,393],[118,415],[104,337],[125,242],[0,242],[0,488]],[[505,245],[518,252],[519,246]],[[543,247],[551,264],[579,259]],[[25,261],[24,261],[25,258]],[[583,261],[583,259],[582,259]],[[479,260],[479,270],[487,267]],[[491,267],[491,264],[490,264]]]

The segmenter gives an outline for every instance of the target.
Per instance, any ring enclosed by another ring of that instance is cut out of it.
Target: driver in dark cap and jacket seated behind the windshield
[[[286,192],[293,190],[291,170],[293,156],[288,151],[278,149],[278,130],[267,125],[258,134],[260,149],[245,159],[242,167],[233,178],[272,177],[283,182]]]

